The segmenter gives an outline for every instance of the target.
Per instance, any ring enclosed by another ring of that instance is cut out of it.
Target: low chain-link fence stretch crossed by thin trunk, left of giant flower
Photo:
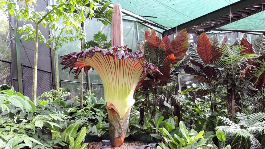
[[[60,87],[68,90],[74,97],[80,94],[80,82],[60,79]],[[87,94],[88,86],[83,82],[83,93]]]

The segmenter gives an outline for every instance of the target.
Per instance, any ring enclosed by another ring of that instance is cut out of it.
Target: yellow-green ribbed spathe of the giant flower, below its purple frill
[[[78,59],[78,66],[92,66],[99,74],[103,86],[105,102],[112,103],[119,111],[121,119],[135,100],[133,93],[141,80],[146,75],[141,65],[141,60],[133,58],[118,59],[116,55],[103,56],[96,52],[92,58]]]

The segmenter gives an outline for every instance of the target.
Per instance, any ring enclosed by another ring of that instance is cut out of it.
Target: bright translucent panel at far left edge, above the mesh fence
[[[4,60],[11,60],[11,50],[9,46],[10,41],[10,31],[9,22],[6,14],[0,10],[0,59],[4,56]]]

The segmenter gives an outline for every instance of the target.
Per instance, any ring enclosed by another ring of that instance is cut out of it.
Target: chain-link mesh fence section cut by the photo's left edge
[[[12,65],[10,61],[2,60],[0,63],[0,85],[12,86]]]

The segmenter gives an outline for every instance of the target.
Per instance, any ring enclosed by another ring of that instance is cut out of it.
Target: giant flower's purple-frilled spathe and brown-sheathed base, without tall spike
[[[123,144],[128,128],[130,108],[134,104],[133,93],[149,71],[160,73],[152,63],[146,62],[145,54],[128,52],[126,46],[110,50],[94,47],[86,51],[61,56],[62,69],[74,70],[75,79],[84,71],[96,70],[103,82],[104,97],[109,114],[112,146]]]

